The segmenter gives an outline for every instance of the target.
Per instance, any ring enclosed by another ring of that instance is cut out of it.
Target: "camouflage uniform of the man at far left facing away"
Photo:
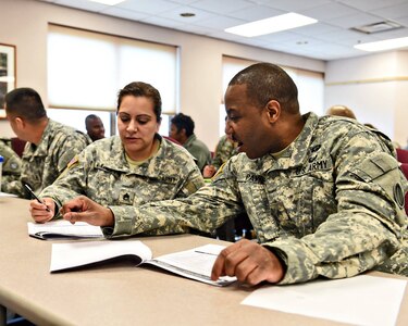
[[[75,154],[89,143],[89,138],[66,125],[49,120],[38,146],[27,142],[23,152],[20,180],[4,184],[3,191],[29,199],[23,183],[35,192],[51,185]]]

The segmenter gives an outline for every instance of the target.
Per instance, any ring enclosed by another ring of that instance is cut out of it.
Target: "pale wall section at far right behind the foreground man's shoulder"
[[[325,108],[349,106],[400,145],[408,137],[408,51],[331,61],[325,71]]]

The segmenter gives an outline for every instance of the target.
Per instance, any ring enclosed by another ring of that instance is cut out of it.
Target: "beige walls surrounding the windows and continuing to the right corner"
[[[344,103],[357,117],[406,143],[408,130],[408,51],[371,54],[325,63],[238,43],[138,24],[35,0],[0,1],[0,42],[17,48],[17,87],[37,89],[47,102],[48,23],[152,40],[180,47],[180,111],[191,115],[196,134],[211,149],[219,139],[222,55],[325,73],[324,103]],[[383,79],[383,80],[382,80]],[[0,137],[12,136],[0,121]]]

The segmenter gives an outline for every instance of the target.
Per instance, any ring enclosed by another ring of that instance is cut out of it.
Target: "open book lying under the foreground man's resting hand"
[[[217,281],[210,278],[212,265],[224,248],[219,244],[206,244],[152,259],[151,250],[139,240],[52,243],[50,272],[132,258],[136,266],[150,264],[202,283],[226,286],[235,281],[236,278],[224,276]]]

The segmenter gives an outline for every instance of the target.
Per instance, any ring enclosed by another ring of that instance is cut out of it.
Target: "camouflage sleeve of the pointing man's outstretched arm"
[[[210,233],[244,211],[236,181],[227,171],[188,198],[110,209],[114,227],[103,228],[108,238],[186,233],[189,228]]]

